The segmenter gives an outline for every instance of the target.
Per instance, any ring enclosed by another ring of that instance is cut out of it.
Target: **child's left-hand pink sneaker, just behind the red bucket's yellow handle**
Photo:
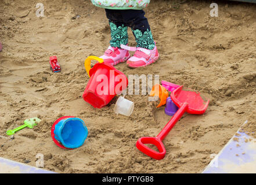
[[[120,62],[127,61],[129,57],[129,51],[125,49],[119,49],[118,47],[109,46],[104,55],[100,58],[103,58],[104,62],[107,62],[111,65],[117,65]]]

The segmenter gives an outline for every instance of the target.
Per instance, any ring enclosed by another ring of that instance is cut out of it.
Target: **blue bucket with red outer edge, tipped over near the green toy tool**
[[[88,129],[83,120],[70,117],[60,120],[55,125],[55,139],[68,149],[75,149],[84,144],[88,135]]]

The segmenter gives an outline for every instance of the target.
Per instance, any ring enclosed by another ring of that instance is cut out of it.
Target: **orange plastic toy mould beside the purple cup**
[[[160,98],[160,103],[157,105],[157,108],[160,108],[160,106],[165,105],[166,99],[168,98],[169,93],[166,90],[166,88],[164,88],[160,84],[156,84],[150,91],[149,96],[150,97],[158,96]]]

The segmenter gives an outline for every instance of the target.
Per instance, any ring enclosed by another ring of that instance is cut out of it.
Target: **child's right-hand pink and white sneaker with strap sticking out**
[[[150,65],[154,63],[159,57],[156,46],[153,50],[148,50],[142,47],[129,47],[125,45],[121,45],[121,48],[129,51],[135,51],[134,56],[129,58],[127,61],[127,64],[130,68],[139,68]]]

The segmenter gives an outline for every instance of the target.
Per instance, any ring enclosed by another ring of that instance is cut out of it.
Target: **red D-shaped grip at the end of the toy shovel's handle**
[[[150,149],[145,144],[152,144],[156,146],[159,152],[153,149]],[[152,157],[156,160],[163,159],[166,153],[163,142],[158,138],[153,138],[153,137],[139,138],[138,141],[136,142],[136,147],[137,149],[145,153],[147,156]]]

